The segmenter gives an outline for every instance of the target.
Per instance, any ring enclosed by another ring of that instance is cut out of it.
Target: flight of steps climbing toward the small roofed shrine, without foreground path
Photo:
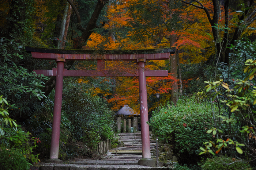
[[[109,150],[106,160],[109,161],[138,161],[142,158],[142,142],[141,132],[136,133],[120,133],[118,134],[119,141],[123,145],[117,146]],[[152,140],[150,134],[150,148],[155,148],[156,141]]]

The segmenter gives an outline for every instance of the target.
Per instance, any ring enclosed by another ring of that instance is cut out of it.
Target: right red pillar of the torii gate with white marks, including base
[[[155,167],[155,160],[151,159],[150,154],[150,139],[147,108],[147,86],[145,63],[146,59],[137,59],[139,65],[139,97],[140,97],[140,121],[141,121],[141,139],[142,139],[142,159],[139,160],[139,165]]]

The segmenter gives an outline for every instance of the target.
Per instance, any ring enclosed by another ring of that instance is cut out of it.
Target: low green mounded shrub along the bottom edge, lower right
[[[234,163],[233,163],[234,162]],[[231,157],[207,158],[202,165],[203,170],[241,170],[249,169],[250,165],[246,162],[236,160]]]

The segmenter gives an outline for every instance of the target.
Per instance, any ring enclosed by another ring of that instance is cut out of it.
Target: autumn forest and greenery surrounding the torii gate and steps
[[[154,134],[171,144],[186,168],[214,159],[229,166],[241,159],[247,161],[241,166],[253,167],[255,7],[253,0],[1,0],[1,149],[18,150],[30,163],[49,153],[55,77],[33,70],[56,63],[32,59],[25,45],[96,51],[176,46],[169,60],[146,63],[146,69],[169,72],[147,78]],[[123,105],[139,113],[138,78],[118,77],[134,72],[136,63],[105,63],[117,77],[64,78],[61,159],[79,155],[75,141],[94,149],[114,139],[114,113]],[[65,64],[96,67],[96,61]]]

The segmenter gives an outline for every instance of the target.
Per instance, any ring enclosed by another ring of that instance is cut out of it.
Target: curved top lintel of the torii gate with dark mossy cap
[[[169,59],[170,54],[174,54],[176,47],[147,50],[65,50],[65,49],[45,49],[26,46],[26,51],[31,53],[35,59],[64,58],[66,60],[111,60],[111,61],[136,61],[138,58],[146,60]]]

